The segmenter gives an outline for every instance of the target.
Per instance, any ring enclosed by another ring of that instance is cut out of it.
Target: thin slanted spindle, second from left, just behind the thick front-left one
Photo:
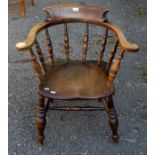
[[[46,69],[46,63],[45,63],[45,60],[44,60],[44,55],[42,53],[42,49],[40,48],[40,45],[39,45],[37,39],[35,41],[35,47],[36,47],[36,50],[37,50],[37,54],[38,54],[39,60],[40,60],[40,62],[42,64],[42,67],[43,67],[45,73],[46,73],[47,69]]]

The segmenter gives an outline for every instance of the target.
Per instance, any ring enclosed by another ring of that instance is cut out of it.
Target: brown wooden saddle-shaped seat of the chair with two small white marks
[[[72,61],[48,66],[44,83],[39,86],[41,95],[52,99],[98,99],[114,93],[105,67],[94,62]]]

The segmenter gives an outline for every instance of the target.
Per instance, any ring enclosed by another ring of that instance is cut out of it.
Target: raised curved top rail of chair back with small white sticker
[[[73,20],[102,20],[107,21],[106,8],[91,4],[68,3],[49,6],[43,9],[47,13],[47,19],[73,19]]]

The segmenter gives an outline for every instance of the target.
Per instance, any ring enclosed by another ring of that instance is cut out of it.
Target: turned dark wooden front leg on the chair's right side
[[[114,143],[118,143],[119,142],[118,119],[117,119],[117,113],[116,113],[116,109],[114,107],[114,102],[113,102],[112,96],[110,96],[106,99],[103,99],[102,102],[103,102],[104,108],[108,114],[109,125],[112,130],[112,140]]]

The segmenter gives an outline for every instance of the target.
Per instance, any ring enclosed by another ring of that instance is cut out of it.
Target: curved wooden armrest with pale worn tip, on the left
[[[49,22],[42,22],[42,23],[36,24],[30,30],[26,40],[24,42],[19,42],[16,44],[16,49],[18,51],[24,51],[24,50],[28,50],[30,47],[32,47],[33,43],[35,42],[37,34],[44,28],[48,27],[49,24],[50,24]]]

